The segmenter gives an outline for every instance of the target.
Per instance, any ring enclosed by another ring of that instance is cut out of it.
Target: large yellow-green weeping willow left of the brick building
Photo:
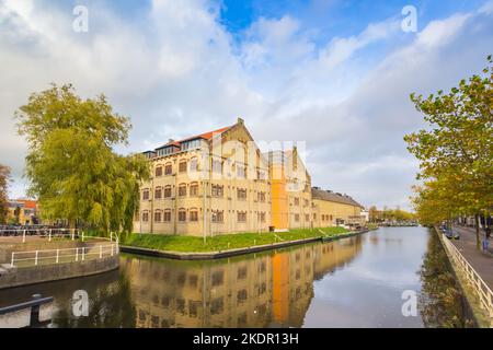
[[[53,85],[32,94],[15,118],[28,142],[28,194],[38,199],[42,218],[106,233],[131,230],[138,185],[149,168],[144,156],[114,151],[128,143],[127,117],[104,95],[82,100],[71,85]]]

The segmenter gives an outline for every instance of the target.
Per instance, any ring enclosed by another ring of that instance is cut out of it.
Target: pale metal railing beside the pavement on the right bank
[[[459,252],[459,249],[450,241],[448,241],[445,234],[442,234],[442,241],[456,262],[456,266],[463,272],[467,282],[479,298],[481,308],[484,310],[490,317],[490,327],[493,327],[493,292]]]

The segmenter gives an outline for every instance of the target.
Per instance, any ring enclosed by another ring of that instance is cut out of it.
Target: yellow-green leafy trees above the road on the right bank
[[[492,57],[482,73],[448,93],[411,100],[429,126],[404,137],[420,161],[412,197],[417,215],[425,224],[474,215],[479,247],[479,218],[493,211]]]

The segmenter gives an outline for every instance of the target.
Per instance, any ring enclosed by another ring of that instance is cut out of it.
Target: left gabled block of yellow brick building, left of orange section
[[[242,119],[145,154],[152,176],[141,185],[134,232],[203,236],[268,230],[268,163]]]

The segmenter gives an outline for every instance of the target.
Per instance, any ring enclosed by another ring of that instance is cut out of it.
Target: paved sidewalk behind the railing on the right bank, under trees
[[[472,268],[481,276],[483,281],[493,290],[493,255],[491,253],[479,250],[475,246],[475,229],[454,226],[458,231],[460,240],[451,240],[455,246],[469,261]],[[481,240],[484,237],[484,231],[481,231]],[[490,249],[493,245],[490,238]]]

